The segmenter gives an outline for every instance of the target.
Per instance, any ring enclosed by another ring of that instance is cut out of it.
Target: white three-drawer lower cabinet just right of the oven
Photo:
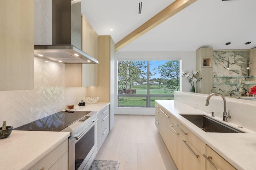
[[[97,150],[105,141],[109,133],[109,105],[99,111],[97,123]]]

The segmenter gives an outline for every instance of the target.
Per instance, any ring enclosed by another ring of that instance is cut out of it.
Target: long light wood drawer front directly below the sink
[[[194,135],[190,130],[188,130],[184,125],[182,125],[177,119],[171,116],[172,124],[177,127],[178,131],[198,149],[201,154],[206,153],[205,143],[201,141],[196,135]]]

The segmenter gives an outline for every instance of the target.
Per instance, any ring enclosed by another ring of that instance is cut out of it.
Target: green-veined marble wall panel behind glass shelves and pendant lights
[[[213,92],[224,96],[244,96],[255,86],[255,78],[248,78],[249,51],[213,51]],[[228,70],[229,63],[229,70]]]

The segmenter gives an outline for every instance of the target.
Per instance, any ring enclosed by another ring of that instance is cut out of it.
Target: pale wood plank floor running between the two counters
[[[95,159],[118,160],[119,170],[177,170],[154,115],[115,115],[115,125]]]

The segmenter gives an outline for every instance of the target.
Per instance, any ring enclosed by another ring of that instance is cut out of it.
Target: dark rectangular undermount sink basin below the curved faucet
[[[244,133],[205,115],[182,115],[205,132]]]

